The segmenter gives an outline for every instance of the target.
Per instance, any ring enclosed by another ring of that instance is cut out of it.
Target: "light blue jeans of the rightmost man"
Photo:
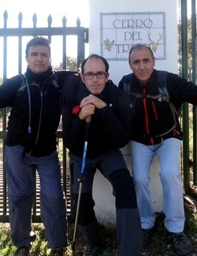
[[[155,215],[150,192],[150,168],[154,155],[160,164],[165,228],[169,232],[184,230],[184,198],[180,177],[180,140],[169,138],[158,145],[131,141],[131,162],[142,228],[154,226]]]

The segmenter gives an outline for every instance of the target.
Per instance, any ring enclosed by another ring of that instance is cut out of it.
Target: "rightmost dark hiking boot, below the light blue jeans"
[[[172,243],[173,249],[178,255],[188,255],[192,252],[191,242],[184,232],[173,233],[166,231],[166,235],[169,239],[169,242]]]

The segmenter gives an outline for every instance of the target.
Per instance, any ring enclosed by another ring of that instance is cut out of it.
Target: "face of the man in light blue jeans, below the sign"
[[[133,49],[130,55],[130,68],[140,83],[150,81],[151,73],[154,70],[154,58],[151,51],[146,47]]]

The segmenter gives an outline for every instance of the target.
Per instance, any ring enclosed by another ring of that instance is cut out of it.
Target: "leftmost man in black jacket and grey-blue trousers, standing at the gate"
[[[46,238],[51,255],[58,256],[67,246],[67,224],[56,132],[61,89],[71,72],[52,70],[50,42],[43,37],[28,42],[26,61],[24,75],[7,79],[0,86],[0,107],[12,107],[5,151],[11,238],[18,255],[29,255],[35,240],[31,216],[37,170]]]

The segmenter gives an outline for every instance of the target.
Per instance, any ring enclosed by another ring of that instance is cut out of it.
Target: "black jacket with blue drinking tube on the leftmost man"
[[[46,156],[57,148],[56,132],[61,116],[60,96],[70,71],[43,74],[26,70],[23,75],[7,79],[0,86],[0,107],[12,107],[7,127],[6,145],[22,145],[32,156]],[[31,133],[28,131],[31,127]]]

